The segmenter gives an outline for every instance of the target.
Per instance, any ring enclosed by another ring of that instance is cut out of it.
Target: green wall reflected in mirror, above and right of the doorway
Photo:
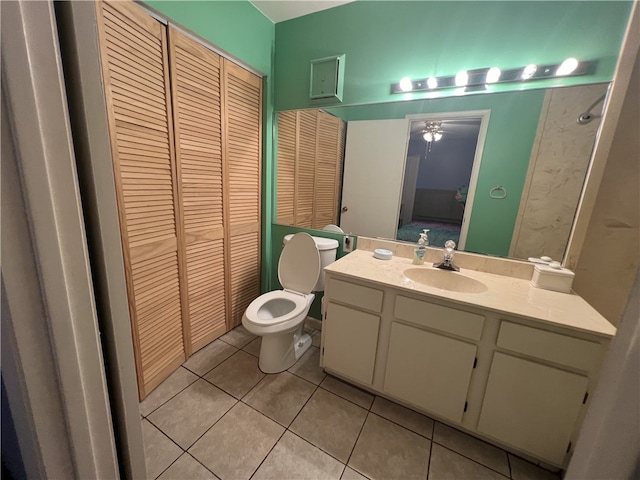
[[[527,90],[328,108],[327,111],[349,122],[404,118],[418,113],[491,110],[465,250],[507,256],[544,95],[544,90]],[[489,190],[497,185],[505,186],[507,198],[489,198]]]

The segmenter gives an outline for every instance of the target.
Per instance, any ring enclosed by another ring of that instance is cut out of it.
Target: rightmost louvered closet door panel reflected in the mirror
[[[338,196],[336,185],[340,180],[340,129],[342,120],[325,112],[318,112],[316,143],[316,172],[313,202],[313,228],[322,229],[336,223]]]

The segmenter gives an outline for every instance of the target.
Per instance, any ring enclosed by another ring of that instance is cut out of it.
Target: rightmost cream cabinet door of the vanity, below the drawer
[[[562,465],[586,391],[586,377],[496,353],[478,430]]]

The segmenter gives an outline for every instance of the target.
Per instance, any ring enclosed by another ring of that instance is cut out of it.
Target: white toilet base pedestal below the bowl
[[[291,368],[311,347],[311,336],[303,331],[304,322],[294,332],[262,337],[258,366],[264,373],[280,373]]]

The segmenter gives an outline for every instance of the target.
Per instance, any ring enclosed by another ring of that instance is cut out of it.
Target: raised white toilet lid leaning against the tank
[[[282,249],[278,279],[283,288],[311,293],[320,276],[320,253],[308,233],[296,233]]]

